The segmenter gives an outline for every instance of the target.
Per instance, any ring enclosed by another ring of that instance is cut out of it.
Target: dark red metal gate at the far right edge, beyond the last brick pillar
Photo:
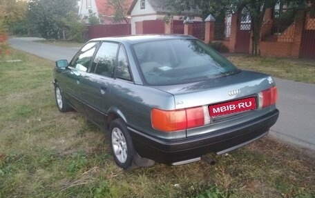
[[[302,34],[300,58],[315,59],[315,17],[307,17]]]

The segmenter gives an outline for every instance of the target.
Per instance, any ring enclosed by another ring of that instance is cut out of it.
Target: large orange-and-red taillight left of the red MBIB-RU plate
[[[177,130],[186,130],[187,128],[194,128],[204,126],[210,123],[210,119],[204,112],[207,108],[195,107],[182,110],[159,110],[153,108],[151,110],[151,123],[153,128],[162,130],[164,132],[173,132]]]

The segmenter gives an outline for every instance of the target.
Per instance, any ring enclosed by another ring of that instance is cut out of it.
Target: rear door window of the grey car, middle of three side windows
[[[112,77],[117,49],[117,43],[103,42],[96,52],[90,72],[105,77]]]

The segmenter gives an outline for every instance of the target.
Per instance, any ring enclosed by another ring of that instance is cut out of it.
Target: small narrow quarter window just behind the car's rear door
[[[118,62],[116,68],[116,77],[118,79],[124,79],[131,81],[131,74],[129,71],[129,63],[124,46],[120,46],[120,52],[118,54]]]

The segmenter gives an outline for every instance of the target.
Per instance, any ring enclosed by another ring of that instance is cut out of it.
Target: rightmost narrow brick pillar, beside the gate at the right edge
[[[294,58],[298,58],[300,55],[300,48],[301,48],[301,41],[302,41],[302,34],[305,25],[305,10],[298,10],[296,12],[296,20],[295,28],[294,28],[294,37],[292,43],[292,50],[291,56]]]

